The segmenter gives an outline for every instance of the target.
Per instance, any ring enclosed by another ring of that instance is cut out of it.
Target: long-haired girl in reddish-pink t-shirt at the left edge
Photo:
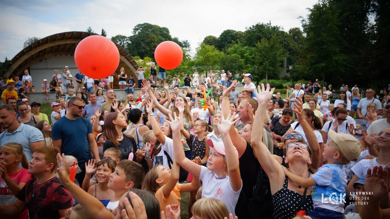
[[[19,167],[21,163],[22,168]],[[16,194],[31,179],[31,174],[27,172],[28,162],[23,153],[23,147],[17,143],[7,143],[0,147],[0,189],[4,191],[0,194],[0,205],[12,205],[15,203]],[[26,209],[16,217],[28,219],[28,210]]]

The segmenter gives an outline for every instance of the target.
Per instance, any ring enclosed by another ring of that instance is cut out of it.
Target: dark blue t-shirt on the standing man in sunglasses
[[[62,140],[61,154],[72,155],[78,162],[85,162],[92,159],[87,138],[91,133],[92,125],[88,119],[79,116],[76,120],[71,120],[63,116],[54,123],[51,138]]]

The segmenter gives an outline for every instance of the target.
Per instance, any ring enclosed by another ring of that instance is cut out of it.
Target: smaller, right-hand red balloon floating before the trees
[[[154,51],[157,64],[165,69],[178,67],[183,60],[183,50],[176,42],[165,41],[160,43]]]

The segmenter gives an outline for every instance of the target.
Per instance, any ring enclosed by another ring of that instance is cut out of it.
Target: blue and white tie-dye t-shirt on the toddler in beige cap
[[[347,186],[347,176],[343,171],[343,165],[325,164],[318,168],[312,177],[317,183],[312,195],[313,207],[343,213],[346,201],[345,187]]]

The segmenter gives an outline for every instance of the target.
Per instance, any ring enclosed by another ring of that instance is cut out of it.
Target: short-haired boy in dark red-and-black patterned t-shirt
[[[59,219],[72,207],[72,196],[53,175],[57,167],[58,150],[54,147],[37,147],[32,154],[28,173],[36,177],[28,181],[16,195],[12,205],[0,205],[0,214],[19,215],[26,208],[31,219]]]

